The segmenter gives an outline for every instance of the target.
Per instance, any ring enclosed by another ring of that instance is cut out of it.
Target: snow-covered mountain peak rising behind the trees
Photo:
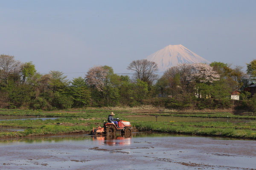
[[[168,45],[165,48],[162,48],[157,52],[149,55],[146,57],[146,59],[156,62],[159,68],[159,72],[166,71],[172,66],[183,63],[210,63],[183,45]]]

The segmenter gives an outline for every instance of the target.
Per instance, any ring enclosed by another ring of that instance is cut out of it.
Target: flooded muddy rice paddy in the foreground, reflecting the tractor
[[[0,170],[247,170],[256,141],[133,133],[0,141]]]

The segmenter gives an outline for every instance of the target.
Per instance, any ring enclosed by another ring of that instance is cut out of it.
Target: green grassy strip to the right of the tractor
[[[199,136],[224,136],[256,139],[256,120],[234,116],[234,118],[189,117],[189,116],[154,116],[129,117],[128,120],[138,130],[162,133],[180,133]],[[218,113],[218,117],[221,117]]]

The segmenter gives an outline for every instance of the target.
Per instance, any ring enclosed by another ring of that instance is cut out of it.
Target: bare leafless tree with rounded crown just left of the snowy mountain
[[[134,60],[128,65],[127,69],[135,71],[134,78],[143,80],[148,85],[153,84],[154,80],[158,77],[155,74],[158,71],[157,63],[147,59]]]

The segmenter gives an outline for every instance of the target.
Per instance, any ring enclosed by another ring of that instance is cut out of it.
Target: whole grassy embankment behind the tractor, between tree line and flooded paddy
[[[60,117],[60,119],[44,121],[41,119],[0,121],[0,127],[25,129],[17,132],[0,132],[0,138],[88,133],[92,127],[102,125],[110,112],[109,110],[0,111],[0,115]],[[141,131],[256,139],[256,116],[239,116],[231,113],[129,113],[128,111],[115,111],[115,113],[116,117],[130,121]],[[157,122],[155,116],[158,116]]]

